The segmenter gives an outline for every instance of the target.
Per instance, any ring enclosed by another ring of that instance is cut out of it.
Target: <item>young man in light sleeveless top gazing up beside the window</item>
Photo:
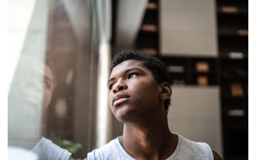
[[[221,159],[208,144],[170,132],[170,80],[164,64],[140,51],[122,51],[111,66],[109,104],[123,135],[88,159]]]

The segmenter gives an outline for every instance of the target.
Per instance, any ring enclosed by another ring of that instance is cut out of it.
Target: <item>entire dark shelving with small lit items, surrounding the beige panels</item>
[[[248,159],[248,1],[216,0],[219,56],[159,54],[158,0],[149,1],[136,49],[160,58],[172,84],[219,85],[224,159]]]

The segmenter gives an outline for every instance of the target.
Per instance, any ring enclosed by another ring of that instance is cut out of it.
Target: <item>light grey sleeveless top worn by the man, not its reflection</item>
[[[193,142],[184,138],[181,135],[178,135],[178,137],[178,145],[174,153],[170,155],[166,160],[214,160],[214,155],[212,154],[212,151],[208,144]],[[110,143],[104,145],[103,147],[95,149],[92,152],[88,153],[88,160],[134,160],[134,158],[123,149],[118,138],[112,140]]]

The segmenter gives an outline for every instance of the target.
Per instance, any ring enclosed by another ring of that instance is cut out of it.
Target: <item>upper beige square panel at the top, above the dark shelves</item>
[[[161,0],[160,53],[217,57],[214,0]]]

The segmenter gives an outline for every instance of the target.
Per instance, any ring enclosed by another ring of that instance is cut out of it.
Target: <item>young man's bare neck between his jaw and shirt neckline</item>
[[[160,115],[125,123],[119,141],[136,159],[166,159],[175,151],[178,136],[169,131],[166,115]]]

